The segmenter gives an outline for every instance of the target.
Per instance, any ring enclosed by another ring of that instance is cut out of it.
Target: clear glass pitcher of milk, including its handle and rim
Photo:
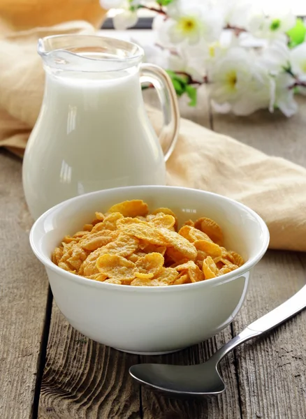
[[[45,94],[22,171],[34,219],[89,191],[165,184],[180,119],[167,73],[142,64],[138,45],[114,38],[48,36],[38,41],[38,53]],[[160,138],[145,112],[140,82],[151,83],[159,95]]]

